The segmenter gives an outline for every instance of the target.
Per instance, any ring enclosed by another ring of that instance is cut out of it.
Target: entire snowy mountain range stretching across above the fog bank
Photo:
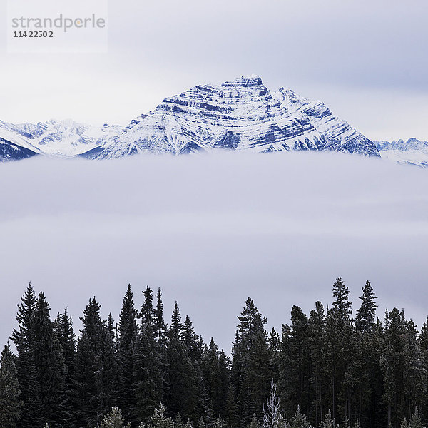
[[[410,141],[410,140],[409,140]],[[136,153],[185,153],[218,150],[336,151],[394,158],[425,152],[417,165],[426,165],[426,143],[406,150],[402,140],[374,143],[337,118],[321,101],[297,96],[291,89],[270,91],[251,75],[203,85],[165,98],[154,111],[141,114],[128,126],[89,126],[74,121],[15,125],[0,121],[0,160],[36,155],[111,159]],[[401,142],[401,143],[400,143]],[[383,156],[385,153],[387,156]]]

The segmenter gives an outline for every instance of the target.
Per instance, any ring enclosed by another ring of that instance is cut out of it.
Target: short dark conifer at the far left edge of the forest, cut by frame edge
[[[5,345],[0,356],[0,427],[16,428],[21,412],[18,374],[15,357],[9,343]]]

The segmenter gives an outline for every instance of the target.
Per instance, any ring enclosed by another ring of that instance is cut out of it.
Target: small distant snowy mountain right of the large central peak
[[[382,158],[404,165],[428,167],[428,141],[409,140],[376,141]]]

